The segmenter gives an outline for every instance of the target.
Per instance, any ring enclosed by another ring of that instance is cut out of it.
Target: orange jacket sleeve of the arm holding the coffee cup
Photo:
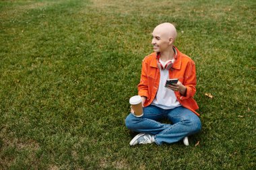
[[[140,77],[140,81],[139,81],[139,85],[138,87],[138,93],[140,96],[145,96],[147,98],[149,98],[149,93],[148,93],[148,64],[146,61],[146,58],[143,59],[142,61],[142,69],[141,69],[141,77]]]

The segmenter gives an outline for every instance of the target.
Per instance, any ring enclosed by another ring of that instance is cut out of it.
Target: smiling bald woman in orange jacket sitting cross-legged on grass
[[[177,30],[170,23],[163,23],[152,32],[154,52],[142,61],[138,94],[141,96],[143,115],[131,113],[125,119],[130,130],[139,132],[129,143],[158,145],[183,140],[201,130],[201,121],[196,112],[195,62],[174,46]],[[167,79],[178,79],[166,85]],[[170,124],[161,122],[170,120]]]

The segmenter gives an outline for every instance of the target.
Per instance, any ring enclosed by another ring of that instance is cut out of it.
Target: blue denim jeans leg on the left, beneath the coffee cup
[[[164,118],[164,110],[155,105],[148,105],[143,108],[143,116],[139,118],[129,114],[125,119],[125,125],[135,132],[154,135],[162,132],[167,126],[158,122],[162,118]]]

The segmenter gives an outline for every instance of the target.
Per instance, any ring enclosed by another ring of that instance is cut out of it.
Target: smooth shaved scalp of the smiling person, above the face
[[[176,28],[168,22],[156,26],[154,33],[158,34],[162,38],[173,38],[173,42],[177,38]]]

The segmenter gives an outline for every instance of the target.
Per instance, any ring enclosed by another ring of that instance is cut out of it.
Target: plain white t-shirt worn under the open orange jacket
[[[161,62],[163,67],[168,62],[163,62],[161,59],[159,61]],[[173,62],[174,59],[172,60],[172,63]],[[152,105],[156,105],[164,110],[173,109],[181,105],[181,103],[177,100],[174,91],[164,87],[167,79],[169,79],[169,71],[166,69],[160,69],[160,83],[158,87],[158,92],[156,93],[156,97],[152,101]]]

